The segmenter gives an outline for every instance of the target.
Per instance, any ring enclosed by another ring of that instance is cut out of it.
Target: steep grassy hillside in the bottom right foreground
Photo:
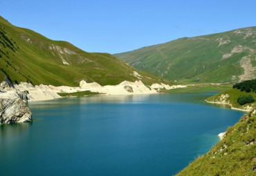
[[[256,175],[256,114],[248,113],[209,153],[197,158],[181,175]]]

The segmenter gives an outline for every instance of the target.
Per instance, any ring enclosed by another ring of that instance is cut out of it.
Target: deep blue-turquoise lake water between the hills
[[[0,126],[1,175],[174,175],[244,114],[212,94],[30,103],[33,124]]]

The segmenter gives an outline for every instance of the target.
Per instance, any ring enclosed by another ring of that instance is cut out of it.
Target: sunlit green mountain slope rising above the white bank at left
[[[138,79],[146,85],[170,83],[138,71],[113,55],[84,52],[66,41],[53,41],[12,26],[0,17],[0,81],[6,77],[15,83],[54,86],[78,86],[82,79],[102,86]]]

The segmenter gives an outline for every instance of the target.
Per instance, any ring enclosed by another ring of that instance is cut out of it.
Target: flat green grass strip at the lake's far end
[[[186,88],[175,88],[171,90],[161,90],[165,93],[201,93],[201,92],[220,92],[232,88],[230,84],[224,85],[211,85],[211,84],[197,84],[194,86],[188,86]]]

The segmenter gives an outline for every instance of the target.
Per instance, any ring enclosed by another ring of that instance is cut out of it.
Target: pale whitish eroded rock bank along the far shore
[[[21,82],[20,84],[10,85],[3,81],[0,89],[3,92],[0,93],[0,98],[15,99],[20,97],[20,92],[26,92],[28,101],[40,101],[61,98],[58,93],[73,93],[81,91],[98,92],[103,95],[135,95],[135,94],[154,94],[158,89],[165,88],[167,90],[185,86],[169,86],[167,84],[153,84],[152,86],[145,86],[142,81],[122,81],[120,84],[112,86],[100,86],[100,84],[93,82],[87,83],[86,81],[80,81],[79,87],[69,86],[52,86],[52,85],[36,85]]]

